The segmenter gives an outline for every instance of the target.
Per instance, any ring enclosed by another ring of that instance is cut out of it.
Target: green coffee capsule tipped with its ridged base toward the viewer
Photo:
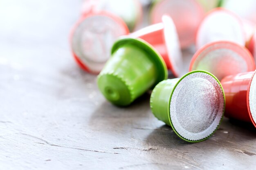
[[[97,83],[107,100],[127,106],[167,76],[166,64],[150,44],[122,38],[113,45]]]

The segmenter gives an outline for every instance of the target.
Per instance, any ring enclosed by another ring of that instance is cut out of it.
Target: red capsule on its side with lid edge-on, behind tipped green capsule
[[[130,34],[151,44],[163,57],[166,66],[174,76],[182,76],[182,53],[173,20],[168,15],[162,16],[162,22],[153,24]]]

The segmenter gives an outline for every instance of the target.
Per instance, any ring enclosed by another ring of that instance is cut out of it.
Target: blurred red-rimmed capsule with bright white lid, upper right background
[[[233,41],[245,46],[245,30],[242,20],[234,13],[216,8],[202,20],[196,34],[196,48],[213,41]]]

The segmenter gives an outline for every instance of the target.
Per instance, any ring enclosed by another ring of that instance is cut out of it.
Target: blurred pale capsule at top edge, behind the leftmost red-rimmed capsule
[[[142,21],[142,7],[139,0],[85,0],[82,13],[107,11],[121,17],[130,31]]]

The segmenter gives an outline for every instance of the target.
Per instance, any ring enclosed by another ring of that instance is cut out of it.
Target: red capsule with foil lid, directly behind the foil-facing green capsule
[[[231,41],[215,41],[200,48],[191,59],[189,71],[205,70],[219,80],[240,72],[254,71],[252,54],[247,48]]]

